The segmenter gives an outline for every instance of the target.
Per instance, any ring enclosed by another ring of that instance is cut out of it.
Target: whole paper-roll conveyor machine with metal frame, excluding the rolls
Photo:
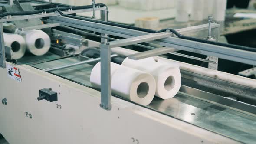
[[[104,4],[10,0],[1,6],[0,133],[10,144],[256,142],[256,80],[217,71],[218,58],[256,65],[256,50],[218,43],[220,23],[211,17],[203,25],[154,31],[108,22]],[[85,12],[92,17],[76,16]],[[13,59],[3,36],[10,25],[43,30],[51,38],[49,52]],[[209,65],[169,59],[174,55]],[[180,65],[174,98],[155,97],[145,106],[111,94],[110,62],[152,56]],[[99,61],[101,90],[90,83]]]

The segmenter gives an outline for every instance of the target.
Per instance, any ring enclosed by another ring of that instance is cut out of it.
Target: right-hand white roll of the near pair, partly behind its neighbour
[[[156,96],[162,99],[173,98],[181,87],[181,72],[178,65],[156,62],[153,57],[132,60],[128,57],[122,65],[148,72],[156,81]]]

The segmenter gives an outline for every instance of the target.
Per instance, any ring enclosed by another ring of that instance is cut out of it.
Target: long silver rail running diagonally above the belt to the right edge
[[[141,36],[149,33],[137,31],[133,29],[125,29],[117,26],[110,26],[101,23],[93,23],[84,20],[76,20],[72,18],[54,16],[50,17],[50,21],[54,23],[61,23],[63,25],[68,25],[72,27],[77,27],[81,29],[87,29],[96,31],[99,33],[108,33],[114,36],[120,36],[125,38],[130,38],[133,36]],[[208,26],[207,26],[208,28]],[[246,50],[233,49],[224,46],[211,45],[207,43],[195,42],[187,39],[180,39],[177,37],[168,37],[166,39],[158,39],[151,41],[165,47],[173,47],[180,50],[185,50],[189,52],[195,52],[203,55],[216,56],[222,59],[229,59],[236,62],[247,63],[251,65],[256,65],[256,52],[249,52]]]

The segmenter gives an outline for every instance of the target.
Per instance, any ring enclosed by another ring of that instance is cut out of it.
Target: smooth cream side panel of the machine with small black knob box
[[[115,97],[112,110],[105,111],[100,92],[27,65],[17,67],[21,83],[0,69],[0,100],[8,101],[0,104],[0,133],[10,144],[238,143]],[[43,88],[57,92],[58,101],[38,101]]]

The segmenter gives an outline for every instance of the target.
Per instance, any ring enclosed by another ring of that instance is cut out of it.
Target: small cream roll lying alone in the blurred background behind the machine
[[[158,17],[144,17],[135,20],[135,26],[145,29],[157,29],[159,27]]]

